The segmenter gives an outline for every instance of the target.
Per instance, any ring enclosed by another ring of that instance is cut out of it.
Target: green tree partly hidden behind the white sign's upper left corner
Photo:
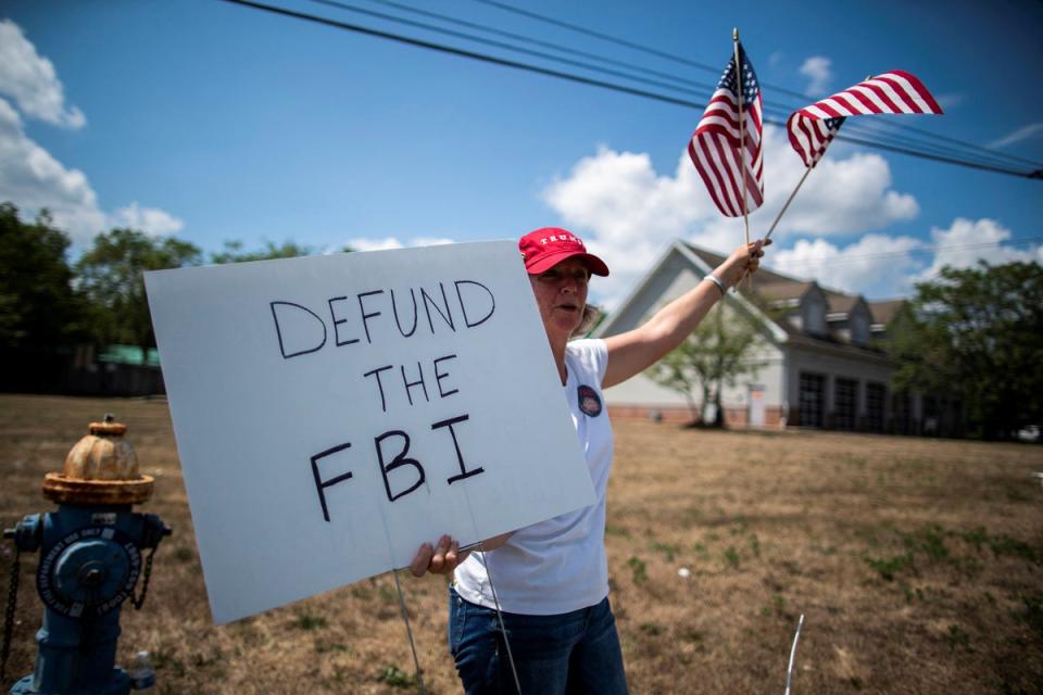
[[[136,229],[113,229],[95,237],[76,264],[78,286],[91,305],[97,338],[141,349],[155,346],[144,293],[144,270],[198,265],[202,252],[174,237],[150,237]]]

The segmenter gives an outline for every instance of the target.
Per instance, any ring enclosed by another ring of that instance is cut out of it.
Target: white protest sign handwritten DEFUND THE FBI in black
[[[146,283],[215,622],[594,502],[513,242]]]

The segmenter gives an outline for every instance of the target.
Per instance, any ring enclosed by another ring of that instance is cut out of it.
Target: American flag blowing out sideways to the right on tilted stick
[[[942,108],[915,75],[894,70],[794,111],[786,123],[790,144],[804,166],[815,166],[846,116],[874,113],[938,114]]]

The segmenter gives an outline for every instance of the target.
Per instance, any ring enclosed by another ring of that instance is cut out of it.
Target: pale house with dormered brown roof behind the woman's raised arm
[[[674,242],[594,334],[612,336],[640,325],[724,260]],[[722,300],[726,320],[752,321],[764,338],[752,357],[759,364],[756,374],[722,392],[726,424],[941,433],[940,415],[929,410],[937,410],[937,404],[890,393],[895,365],[883,346],[903,302],[868,302],[762,267],[752,283],[743,282]],[[646,375],[606,390],[605,399],[614,417],[692,419],[684,395]]]

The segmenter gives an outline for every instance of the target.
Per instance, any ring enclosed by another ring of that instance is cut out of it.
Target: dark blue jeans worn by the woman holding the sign
[[[608,599],[557,616],[504,612],[520,695],[626,695],[623,652]],[[497,611],[449,587],[449,649],[467,695],[515,695]]]

